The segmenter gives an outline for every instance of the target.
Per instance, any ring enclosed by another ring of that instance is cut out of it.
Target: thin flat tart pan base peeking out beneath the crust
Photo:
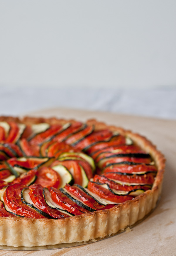
[[[157,202],[155,208],[157,207],[157,205],[158,205],[158,202]],[[128,232],[128,230],[131,231],[130,230],[131,228],[133,228],[134,226],[136,226],[139,223],[141,223],[144,219],[146,219],[154,211],[154,209],[152,211],[150,211],[150,213],[147,214],[143,219],[137,221],[134,225],[126,227],[125,229],[121,229],[117,233],[111,234],[110,236],[108,235],[108,236],[103,237],[103,238],[92,239],[92,240],[89,240],[87,242],[80,242],[80,243],[62,243],[62,244],[45,245],[45,246],[33,246],[33,247],[25,247],[25,246],[13,247],[13,246],[1,245],[0,246],[0,250],[38,251],[38,250],[63,249],[63,248],[68,248],[68,247],[75,247],[75,246],[81,246],[81,245],[85,245],[85,244],[91,244],[91,243],[94,243],[94,242],[98,242],[98,241],[107,239],[109,237],[114,237],[114,236],[116,236],[116,235],[118,235],[120,233],[123,233],[125,231]]]

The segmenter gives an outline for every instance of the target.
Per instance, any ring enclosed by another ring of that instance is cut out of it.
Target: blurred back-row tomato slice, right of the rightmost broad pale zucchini
[[[39,145],[42,142],[49,140],[53,135],[59,133],[62,130],[62,126],[58,124],[53,124],[48,128],[45,132],[40,132],[39,134],[35,135],[30,140],[31,145]]]

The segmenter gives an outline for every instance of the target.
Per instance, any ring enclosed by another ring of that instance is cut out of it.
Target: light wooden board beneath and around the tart
[[[1,255],[35,256],[174,256],[176,255],[176,121],[125,116],[71,109],[49,109],[30,113],[33,116],[57,116],[85,121],[96,118],[107,124],[122,126],[145,135],[167,159],[163,191],[156,209],[143,222],[114,237],[92,244],[43,251],[6,251]],[[81,232],[81,231],[80,231]]]

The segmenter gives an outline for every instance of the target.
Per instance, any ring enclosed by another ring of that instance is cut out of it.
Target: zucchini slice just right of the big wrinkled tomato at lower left
[[[44,211],[42,211],[42,210],[38,209],[37,207],[35,207],[35,205],[33,204],[33,201],[30,198],[29,191],[30,191],[30,189],[23,188],[23,190],[21,191],[21,202],[23,204],[26,204],[26,205],[30,206],[35,211],[37,211],[38,213],[42,214],[43,216],[45,216],[48,219],[56,219],[56,218],[51,217],[49,214],[45,213]]]

